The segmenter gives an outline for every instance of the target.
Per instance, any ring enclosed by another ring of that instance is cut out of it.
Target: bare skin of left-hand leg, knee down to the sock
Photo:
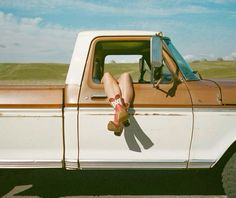
[[[104,90],[108,98],[114,98],[118,94],[121,95],[120,87],[110,73],[106,72],[101,82],[104,84]]]

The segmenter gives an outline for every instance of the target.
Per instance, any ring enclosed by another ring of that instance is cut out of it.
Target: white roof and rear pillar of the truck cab
[[[100,36],[153,36],[157,32],[151,31],[85,31],[77,36],[72,54],[66,84],[79,85],[82,80],[89,47],[92,40]]]

